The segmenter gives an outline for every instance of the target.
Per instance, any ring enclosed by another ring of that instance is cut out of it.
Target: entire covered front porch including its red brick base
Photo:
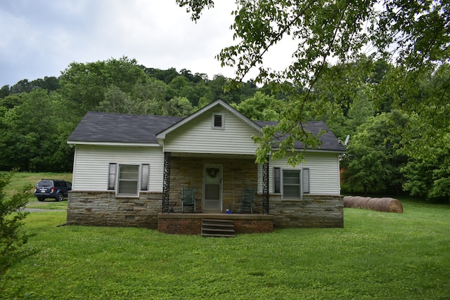
[[[258,193],[259,186],[268,186],[258,182],[268,181],[268,174],[258,174],[259,169],[267,168],[258,168],[254,155],[165,152],[158,231],[206,235],[205,224],[220,221],[229,224],[225,228],[233,228],[233,233],[271,233],[274,216],[269,215],[268,189],[263,188],[266,194]],[[195,206],[184,207],[184,188],[193,188]],[[245,189],[254,191],[251,210],[240,205]],[[217,233],[221,230],[227,231]]]

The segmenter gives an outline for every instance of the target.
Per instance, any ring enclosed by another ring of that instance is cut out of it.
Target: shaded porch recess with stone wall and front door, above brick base
[[[267,170],[254,155],[165,152],[162,213],[269,214]],[[184,188],[193,188],[195,207],[183,206]],[[240,209],[245,189],[254,190],[252,211]]]

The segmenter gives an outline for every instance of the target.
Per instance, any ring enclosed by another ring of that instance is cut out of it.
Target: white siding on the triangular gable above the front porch
[[[224,112],[224,130],[212,129],[212,115]],[[219,107],[184,124],[165,138],[165,151],[255,155],[252,136],[258,131]]]

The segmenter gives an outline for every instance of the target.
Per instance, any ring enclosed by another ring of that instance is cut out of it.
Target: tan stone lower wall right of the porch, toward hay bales
[[[344,202],[341,195],[303,195],[303,200],[281,200],[270,195],[270,214],[275,228],[342,228]]]

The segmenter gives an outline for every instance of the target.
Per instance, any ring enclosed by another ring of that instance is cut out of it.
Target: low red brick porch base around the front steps
[[[274,231],[274,216],[267,214],[224,213],[160,213],[158,231],[161,233],[200,235],[202,219],[233,221],[236,233],[271,233]]]

